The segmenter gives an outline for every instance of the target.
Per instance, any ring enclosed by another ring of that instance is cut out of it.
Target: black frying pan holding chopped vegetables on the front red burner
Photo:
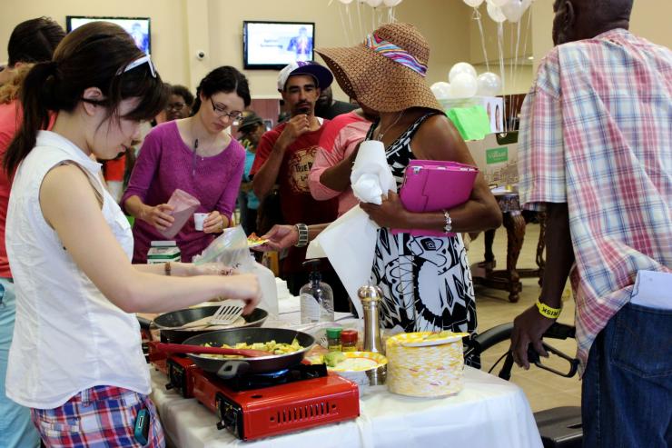
[[[301,363],[303,356],[315,343],[310,334],[288,330],[285,328],[232,328],[231,330],[217,330],[206,334],[190,337],[183,343],[188,345],[203,345],[210,343],[222,346],[223,343],[234,346],[236,343],[267,343],[274,340],[276,343],[292,343],[296,338],[303,349],[294,353],[274,354],[259,358],[246,359],[213,359],[198,354],[188,354],[198,367],[205,372],[217,373],[223,379],[233,378],[242,373],[271,373],[277,372],[292,365]]]

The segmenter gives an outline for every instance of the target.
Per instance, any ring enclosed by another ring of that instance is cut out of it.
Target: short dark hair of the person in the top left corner
[[[49,17],[26,20],[16,25],[7,44],[7,65],[17,62],[50,61],[54,48],[63,40],[64,29]]]

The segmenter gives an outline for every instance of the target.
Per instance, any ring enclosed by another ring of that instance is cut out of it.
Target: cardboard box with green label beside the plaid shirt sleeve
[[[518,184],[518,131],[488,134],[467,146],[491,187]]]

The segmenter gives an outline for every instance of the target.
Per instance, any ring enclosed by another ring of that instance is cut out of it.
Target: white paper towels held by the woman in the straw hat
[[[352,191],[362,202],[381,204],[380,194],[397,191],[381,142],[370,140],[361,144],[352,167],[351,183]],[[360,316],[363,311],[357,290],[371,278],[378,229],[378,224],[357,205],[324,229],[308,246],[306,254],[307,258],[329,258]]]

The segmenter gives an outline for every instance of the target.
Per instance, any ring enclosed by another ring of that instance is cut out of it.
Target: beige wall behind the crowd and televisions
[[[11,8],[7,7],[11,3]],[[348,21],[341,24],[343,6],[338,0],[2,0],[0,10],[0,61],[6,61],[7,39],[14,26],[28,18],[49,15],[65,25],[65,15],[119,15],[149,16],[152,18],[153,59],[163,78],[172,83],[194,88],[212,68],[219,65],[242,67],[243,20],[300,20],[315,22],[318,46],[352,45],[360,42],[363,34],[371,31],[371,8],[361,6],[361,28],[356,3],[349,8],[354,30]],[[529,31],[528,51],[535,65],[552,46],[552,0],[536,0],[532,5],[532,25]],[[480,7],[487,38],[490,61],[497,60],[496,26]],[[472,9],[462,0],[405,0],[396,8],[397,20],[416,25],[428,38],[431,47],[428,82],[446,80],[450,66],[469,61],[483,62],[478,28],[471,20]],[[386,15],[383,9],[382,15]],[[636,0],[632,30],[658,44],[672,46],[672,16],[670,0]],[[521,19],[527,27],[527,15]],[[509,30],[509,27],[505,28]],[[361,30],[361,31],[360,31]],[[524,42],[523,32],[521,35]],[[505,57],[510,56],[510,34],[505,32]],[[196,58],[203,50],[206,57]],[[318,57],[318,60],[320,58]],[[482,68],[481,68],[482,67]],[[481,65],[479,73],[485,71]],[[496,67],[495,67],[496,68]],[[493,67],[490,66],[492,70]],[[495,70],[498,72],[499,70]],[[247,71],[255,97],[278,97],[275,91],[277,72],[270,70]],[[506,93],[524,93],[532,81],[533,68],[519,67],[515,80],[509,75]],[[514,82],[515,81],[515,82]],[[336,95],[341,96],[339,89]]]

